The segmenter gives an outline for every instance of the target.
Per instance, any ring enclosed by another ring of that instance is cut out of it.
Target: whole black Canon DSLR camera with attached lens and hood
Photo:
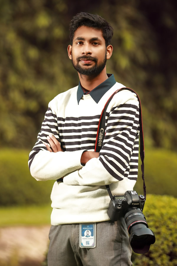
[[[146,218],[142,213],[145,197],[137,194],[135,190],[126,191],[123,196],[112,196],[108,207],[108,216],[112,221],[117,221],[124,216],[129,241],[135,253],[146,253],[150,245],[155,243],[153,231],[148,228]]]

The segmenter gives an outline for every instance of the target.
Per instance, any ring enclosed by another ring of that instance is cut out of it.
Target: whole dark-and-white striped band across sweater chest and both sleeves
[[[119,181],[124,177],[131,180],[137,179],[139,108],[138,101],[135,103],[115,105],[106,112],[106,135],[99,160],[109,174]],[[35,155],[40,150],[46,150],[43,142],[47,142],[49,134],[53,134],[58,139],[64,151],[94,151],[102,108],[98,114],[91,116],[82,116],[84,110],[81,110],[79,117],[62,117],[60,112],[53,112],[49,107],[38,134],[38,140],[30,153],[29,167]]]

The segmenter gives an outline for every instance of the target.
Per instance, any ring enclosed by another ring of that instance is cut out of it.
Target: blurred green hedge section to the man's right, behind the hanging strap
[[[145,150],[145,184],[150,194],[172,195],[177,197],[177,153],[163,149]],[[139,158],[138,179],[134,189],[143,194],[141,160]]]

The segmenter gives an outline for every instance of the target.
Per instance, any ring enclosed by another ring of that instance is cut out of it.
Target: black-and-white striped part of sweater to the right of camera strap
[[[112,108],[107,114],[103,144],[100,160],[106,170],[118,180],[124,177],[136,180],[139,150],[139,108],[137,106],[123,104]]]

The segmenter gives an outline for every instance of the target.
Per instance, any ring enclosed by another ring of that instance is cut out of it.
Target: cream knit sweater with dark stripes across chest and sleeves
[[[124,86],[115,82],[100,99],[94,100],[93,91],[79,99],[77,86],[49,103],[29,156],[29,167],[37,180],[64,177],[53,185],[52,225],[109,220],[110,198],[105,185],[110,184],[114,195],[133,189],[139,147],[139,103],[135,93],[121,90],[113,97],[106,110],[106,135],[99,158],[92,158],[85,166],[80,162],[83,151],[94,151],[101,111],[121,87]],[[44,142],[49,134],[56,137],[64,152],[46,150]]]

